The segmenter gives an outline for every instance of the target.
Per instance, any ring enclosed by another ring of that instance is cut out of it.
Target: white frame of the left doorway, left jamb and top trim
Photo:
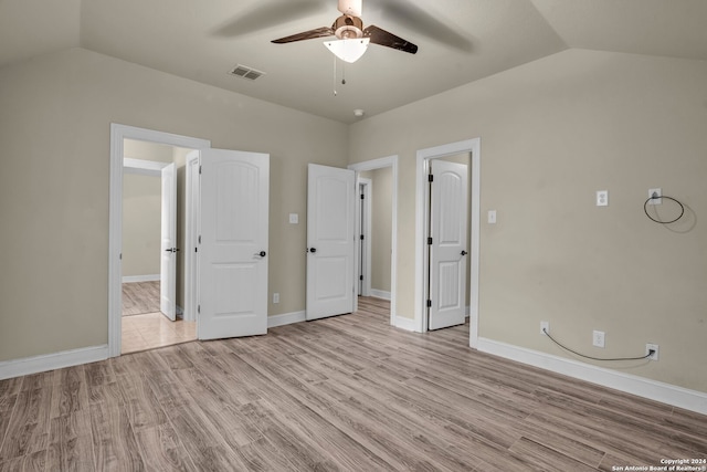
[[[201,149],[211,147],[207,139],[173,135],[134,126],[110,124],[110,192],[108,202],[108,356],[120,355],[123,264],[123,155],[124,139]],[[186,274],[188,275],[188,274]]]

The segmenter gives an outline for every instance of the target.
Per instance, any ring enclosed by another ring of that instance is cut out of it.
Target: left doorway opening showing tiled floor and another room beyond
[[[184,263],[177,217],[184,220],[183,166],[189,151],[124,140],[123,354],[196,339],[196,323],[183,319],[183,302],[178,301],[183,300]]]

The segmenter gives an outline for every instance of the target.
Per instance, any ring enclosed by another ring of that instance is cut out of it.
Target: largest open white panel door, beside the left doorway
[[[199,339],[267,333],[270,155],[202,149]]]

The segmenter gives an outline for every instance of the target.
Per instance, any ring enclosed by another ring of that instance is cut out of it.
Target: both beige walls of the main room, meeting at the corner
[[[481,137],[498,223],[482,219],[479,335],[558,356],[540,321],[601,356],[657,343],[659,361],[615,368],[707,391],[706,83],[704,61],[569,50],[347,127],[81,49],[4,67],[0,360],[107,342],[110,123],[271,154],[271,314],[304,308],[306,162],[399,155],[412,317],[415,151]],[[679,223],[643,214],[652,187],[686,203]]]

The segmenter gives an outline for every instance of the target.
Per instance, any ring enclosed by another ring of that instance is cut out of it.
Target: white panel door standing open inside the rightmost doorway
[[[431,166],[429,329],[466,318],[467,168],[435,159]]]

